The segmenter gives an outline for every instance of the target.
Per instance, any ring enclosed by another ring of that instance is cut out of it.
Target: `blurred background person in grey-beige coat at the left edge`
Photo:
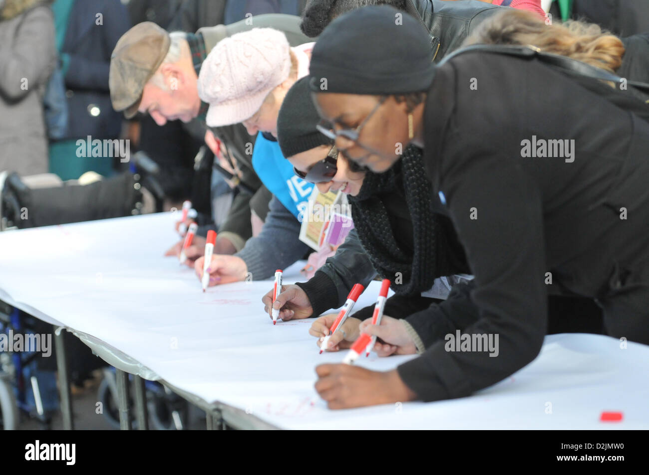
[[[47,172],[45,86],[56,65],[50,0],[0,0],[0,172]]]

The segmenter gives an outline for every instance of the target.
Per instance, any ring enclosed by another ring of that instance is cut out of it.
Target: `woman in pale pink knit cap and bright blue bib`
[[[313,43],[290,47],[284,33],[255,28],[219,41],[201,67],[199,96],[210,104],[210,127],[242,122],[257,133],[252,167],[273,193],[260,234],[234,256],[213,256],[211,284],[271,277],[302,259],[308,246],[299,240],[300,218],[308,207],[313,183],[302,180],[284,159],[276,141],[277,117],[288,90],[308,75]],[[252,141],[251,141],[252,142]],[[202,277],[203,260],[195,262]]]

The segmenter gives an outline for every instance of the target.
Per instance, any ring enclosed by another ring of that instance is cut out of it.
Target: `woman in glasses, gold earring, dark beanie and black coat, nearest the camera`
[[[321,397],[350,408],[487,388],[539,354],[548,294],[589,297],[608,335],[649,344],[649,124],[632,112],[636,96],[609,99],[606,84],[533,49],[465,51],[433,67],[426,31],[397,13],[361,8],[324,30],[310,64],[318,130],[377,173],[401,160],[395,144],[421,146],[475,278],[407,325],[363,323],[383,341],[378,354],[421,357],[387,373],[319,365]],[[456,331],[495,348],[457,351]]]

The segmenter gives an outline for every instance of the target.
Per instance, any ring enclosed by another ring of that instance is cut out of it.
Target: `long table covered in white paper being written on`
[[[178,239],[173,220],[165,213],[0,233],[0,299],[104,346],[133,373],[249,417],[250,426],[649,428],[649,346],[620,349],[614,338],[585,334],[546,337],[532,364],[469,398],[328,410],[313,389],[314,367],[344,353],[319,354],[312,319],[274,327],[261,303],[271,281],[203,294],[193,270],[163,257]],[[301,280],[296,269],[285,283]],[[377,284],[357,309],[373,303]],[[371,354],[358,364],[388,370],[412,357]],[[602,411],[624,417],[602,423]]]

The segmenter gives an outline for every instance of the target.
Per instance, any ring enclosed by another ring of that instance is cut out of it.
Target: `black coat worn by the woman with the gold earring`
[[[644,330],[615,336],[649,340],[647,122],[537,60],[467,52],[437,70],[424,129],[426,172],[475,279],[406,319],[425,352],[398,373],[419,399],[465,397],[530,363],[548,292],[601,302],[640,289]],[[574,140],[574,156],[523,157],[534,137]],[[498,356],[446,351],[456,329],[498,335]]]

